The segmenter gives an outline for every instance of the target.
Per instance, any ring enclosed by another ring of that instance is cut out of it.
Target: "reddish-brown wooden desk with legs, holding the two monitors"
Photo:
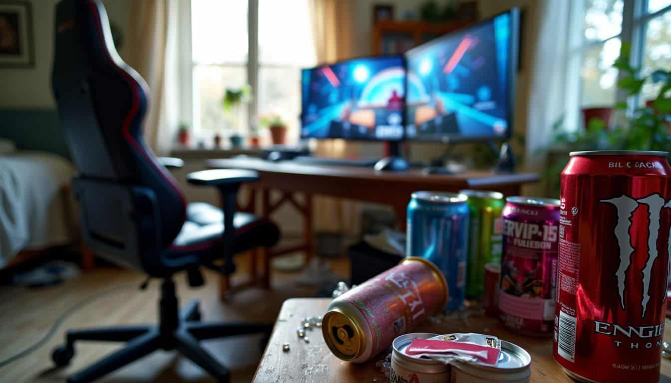
[[[291,203],[303,215],[303,243],[291,248],[262,250],[264,258],[264,286],[270,286],[269,258],[303,251],[306,260],[312,252],[312,197],[325,195],[342,199],[354,199],[391,205],[396,213],[397,227],[405,231],[405,215],[411,193],[417,190],[437,190],[458,192],[466,188],[495,190],[504,195],[519,195],[522,184],[535,182],[538,174],[496,174],[483,170],[469,170],[460,174],[426,175],[421,169],[403,172],[376,172],[372,168],[358,166],[306,165],[291,161],[270,162],[259,158],[227,158],[207,160],[208,168],[236,168],[256,170],[260,180],[249,184],[248,205],[241,211],[252,211],[263,217],[270,217],[283,203]],[[262,207],[256,211],[256,190],[261,190]],[[270,190],[279,190],[282,197],[270,201]],[[295,199],[294,194],[304,196],[303,203]],[[256,260],[256,256],[252,257]],[[252,268],[256,269],[252,262]],[[254,276],[253,276],[254,277]],[[225,289],[225,286],[223,286]]]

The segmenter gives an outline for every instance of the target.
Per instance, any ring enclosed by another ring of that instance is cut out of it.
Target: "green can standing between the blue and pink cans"
[[[501,211],[505,199],[499,192],[486,190],[461,190],[459,193],[468,196],[470,210],[466,296],[478,298],[482,295],[484,265],[491,262],[501,263]]]

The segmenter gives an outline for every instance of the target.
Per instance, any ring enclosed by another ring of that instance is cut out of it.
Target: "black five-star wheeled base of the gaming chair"
[[[168,284],[166,289],[166,284]],[[197,300],[193,300],[178,315],[169,315],[172,308],[170,302],[176,298],[169,296],[174,284],[166,280],[163,286],[163,296],[160,305],[160,323],[158,325],[132,325],[126,327],[109,327],[103,329],[71,330],[66,333],[66,343],[56,347],[52,353],[52,360],[56,366],[64,366],[74,356],[76,341],[125,341],[127,344],[107,355],[99,362],[68,377],[69,383],[92,382],[101,376],[109,374],[127,364],[156,351],[158,349],[176,349],[191,362],[201,366],[218,382],[229,382],[229,370],[217,362],[207,352],[199,341],[254,333],[268,333],[272,325],[251,323],[201,323],[201,314]],[[168,290],[168,296],[166,296]],[[167,304],[166,304],[167,303]]]

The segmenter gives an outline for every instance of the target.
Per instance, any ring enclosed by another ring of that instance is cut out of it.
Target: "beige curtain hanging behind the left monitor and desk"
[[[319,64],[356,56],[354,36],[355,0],[309,0],[315,54]],[[351,157],[359,152],[358,144],[344,140],[320,140],[317,156]],[[315,197],[317,231],[358,232],[358,207],[354,203],[327,197]]]

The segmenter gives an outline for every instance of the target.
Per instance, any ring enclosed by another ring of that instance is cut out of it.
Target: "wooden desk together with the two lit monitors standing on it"
[[[246,188],[249,197],[243,211],[270,217],[288,203],[301,213],[303,243],[263,250],[265,286],[270,286],[270,262],[266,262],[270,257],[301,251],[309,258],[314,195],[390,205],[397,229],[405,231],[407,206],[417,190],[478,189],[519,195],[523,184],[539,179],[537,174],[515,172],[511,152],[499,152],[495,144],[504,142],[501,148],[509,148],[505,141],[512,135],[517,18],[517,9],[512,9],[405,55],[356,58],[302,70],[301,139],[384,142],[384,158],[334,160],[305,156],[303,150],[270,150],[262,158],[207,160],[208,168],[258,172],[258,182]],[[495,170],[417,167],[402,153],[403,144],[413,142],[487,142],[497,150],[499,161],[490,165]],[[271,190],[280,192],[276,201]]]

